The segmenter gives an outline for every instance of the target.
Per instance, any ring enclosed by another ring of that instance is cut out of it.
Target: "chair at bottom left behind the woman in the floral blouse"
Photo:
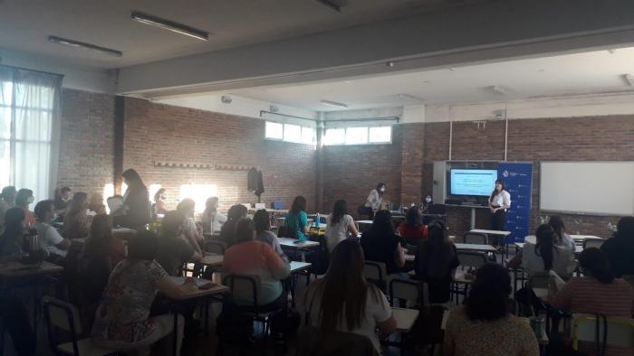
[[[48,339],[53,354],[73,356],[119,354],[119,351],[106,350],[95,345],[90,337],[78,340],[78,335],[82,333],[82,321],[80,320],[79,310],[75,305],[46,295],[43,297],[43,309]],[[58,343],[57,334],[59,330],[70,333],[72,342]]]

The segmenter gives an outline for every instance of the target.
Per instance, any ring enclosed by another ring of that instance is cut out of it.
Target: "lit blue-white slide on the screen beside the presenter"
[[[452,169],[452,195],[491,195],[497,179],[496,170],[484,169]]]

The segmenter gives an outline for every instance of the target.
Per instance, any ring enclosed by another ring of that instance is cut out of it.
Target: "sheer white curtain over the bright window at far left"
[[[0,65],[0,186],[49,199],[57,181],[62,76]]]

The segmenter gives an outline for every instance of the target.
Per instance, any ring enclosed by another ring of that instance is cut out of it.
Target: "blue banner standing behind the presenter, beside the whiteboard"
[[[524,242],[530,235],[533,164],[500,163],[497,177],[504,181],[506,192],[511,194],[511,209],[506,212],[506,230],[511,231],[508,243]]]

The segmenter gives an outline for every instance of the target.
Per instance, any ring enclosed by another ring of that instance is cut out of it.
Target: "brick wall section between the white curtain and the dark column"
[[[102,193],[112,183],[114,97],[63,89],[57,184]]]

